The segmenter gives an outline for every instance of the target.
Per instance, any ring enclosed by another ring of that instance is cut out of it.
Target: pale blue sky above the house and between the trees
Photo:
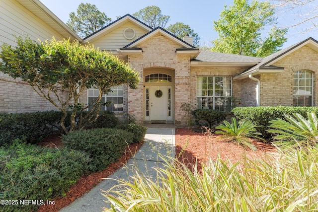
[[[146,6],[156,5],[161,9],[162,15],[169,15],[170,21],[166,27],[176,22],[187,24],[200,37],[200,46],[211,46],[211,41],[218,38],[213,30],[213,21],[220,18],[224,5],[232,5],[233,0],[40,0],[64,23],[69,20],[69,14],[76,12],[80,3],[95,4],[98,10],[104,12],[112,21],[117,16],[127,13],[133,14]],[[318,4],[318,2],[315,2]],[[313,5],[311,5],[313,6]],[[310,9],[308,7],[307,9]],[[306,11],[306,8],[302,8]],[[291,26],[299,22],[297,11],[277,11],[279,27]],[[282,48],[291,46],[308,37],[318,40],[318,27],[314,30],[305,31],[307,26],[292,27],[287,34],[287,42]],[[304,32],[305,31],[305,32]]]

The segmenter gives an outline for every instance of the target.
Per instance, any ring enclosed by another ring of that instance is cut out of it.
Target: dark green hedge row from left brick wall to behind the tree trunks
[[[60,111],[0,114],[0,146],[10,144],[15,139],[34,144],[55,132],[62,132],[60,124],[62,116],[63,113]],[[70,126],[70,117],[71,113],[68,113],[65,119],[67,128]],[[118,124],[119,119],[113,112],[102,111],[91,127],[113,128]]]

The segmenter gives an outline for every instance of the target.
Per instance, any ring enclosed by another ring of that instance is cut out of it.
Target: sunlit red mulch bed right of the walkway
[[[222,160],[229,159],[235,163],[243,158],[244,148],[234,142],[222,141],[220,135],[213,134],[210,138],[203,133],[196,133],[185,128],[176,129],[175,144],[176,157],[183,161],[188,168],[193,170],[193,164],[197,160],[198,170],[201,171],[201,163],[206,163],[210,159],[216,160],[218,154]],[[247,158],[264,158],[266,153],[276,152],[276,148],[270,143],[263,143],[251,140],[257,147],[257,151],[246,148]]]

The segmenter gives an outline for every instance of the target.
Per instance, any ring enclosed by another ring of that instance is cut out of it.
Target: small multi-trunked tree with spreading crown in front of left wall
[[[82,129],[96,120],[100,109],[98,103],[112,86],[128,84],[136,88],[139,82],[138,73],[117,57],[78,41],[53,38],[43,43],[19,37],[16,47],[3,44],[1,49],[0,71],[21,78],[38,95],[62,111],[61,126],[65,132]],[[99,96],[84,115],[82,112],[88,105],[79,104],[79,96],[91,87],[99,90]],[[66,96],[61,96],[62,90],[66,91]],[[69,109],[72,111],[71,129],[64,125]],[[80,113],[78,126],[75,122],[77,113]]]

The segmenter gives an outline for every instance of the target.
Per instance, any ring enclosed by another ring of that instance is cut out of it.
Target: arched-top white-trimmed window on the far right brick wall
[[[294,72],[293,106],[313,106],[313,73]]]

